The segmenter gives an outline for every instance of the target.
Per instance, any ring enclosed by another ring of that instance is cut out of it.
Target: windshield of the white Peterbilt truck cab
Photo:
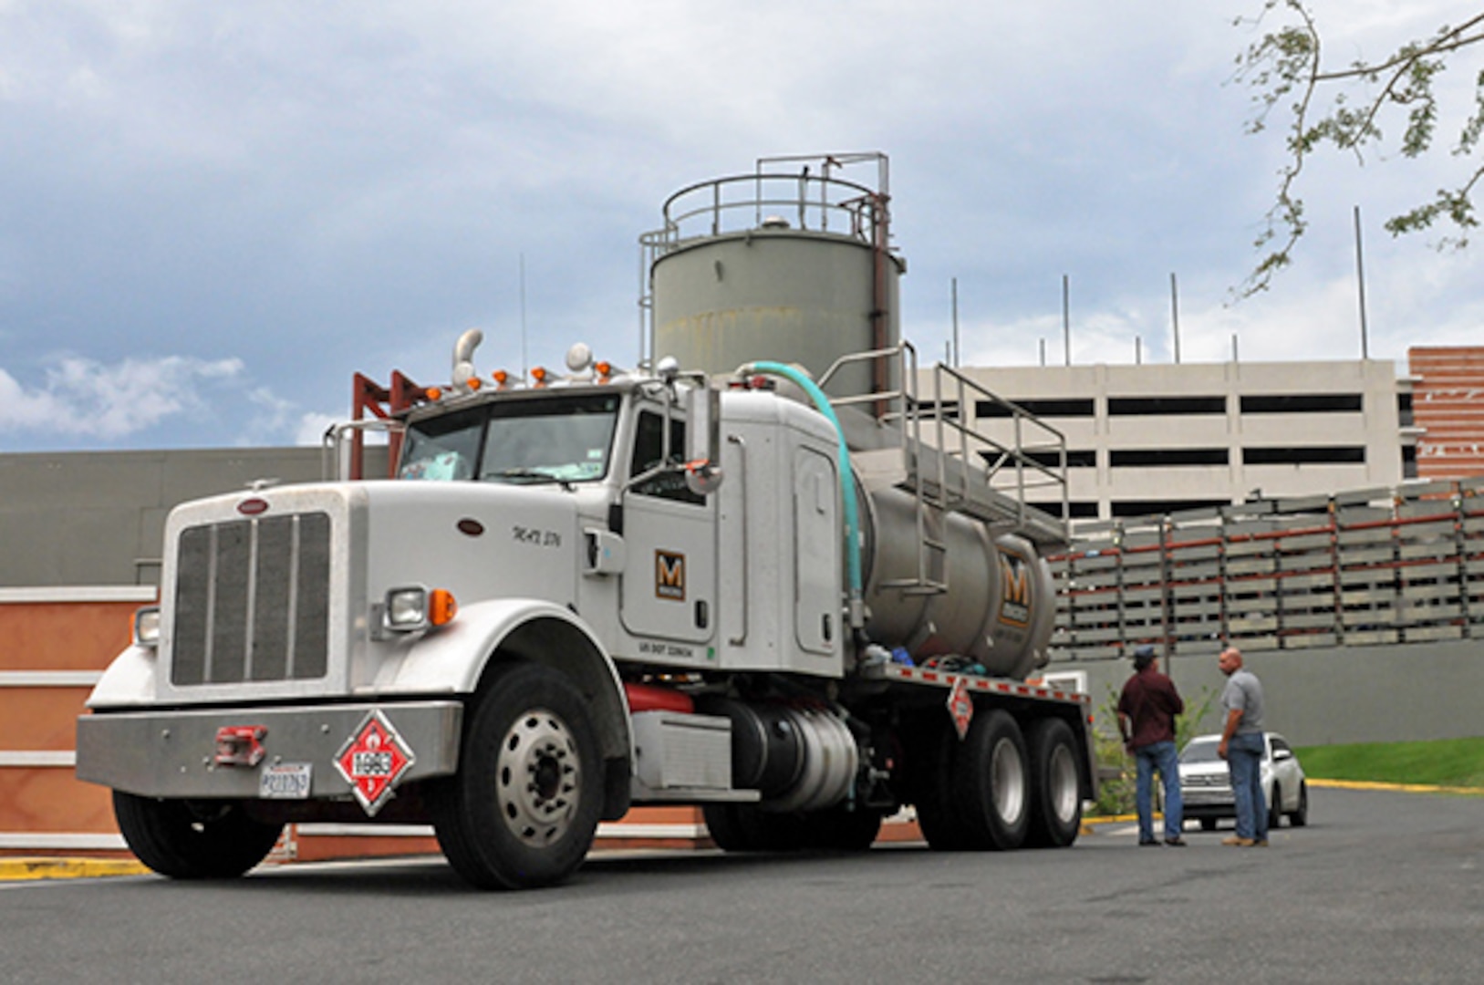
[[[617,393],[512,399],[417,421],[404,479],[586,482],[608,473]]]

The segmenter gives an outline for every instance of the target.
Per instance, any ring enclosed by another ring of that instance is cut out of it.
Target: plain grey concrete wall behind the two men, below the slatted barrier
[[[1169,669],[1195,709],[1204,696],[1220,696],[1226,678],[1208,656],[1174,657]],[[1480,696],[1484,694],[1484,653],[1477,639],[1413,645],[1337,647],[1244,654],[1247,668],[1263,681],[1266,724],[1300,746],[1353,742],[1417,742],[1484,736]],[[1163,663],[1163,662],[1162,662]],[[1128,660],[1068,660],[1049,673],[1082,671],[1098,728],[1116,725],[1104,708],[1134,672]],[[1218,700],[1198,725],[1221,727]]]

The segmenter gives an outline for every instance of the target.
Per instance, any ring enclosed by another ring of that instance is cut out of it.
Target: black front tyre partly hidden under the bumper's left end
[[[177,880],[236,878],[267,857],[283,825],[248,817],[229,801],[113,792],[113,814],[139,862]]]

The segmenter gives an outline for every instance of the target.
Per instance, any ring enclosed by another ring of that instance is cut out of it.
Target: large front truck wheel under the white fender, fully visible
[[[582,693],[551,668],[512,663],[472,712],[459,773],[429,791],[438,844],[478,889],[559,883],[586,857],[603,810]]]

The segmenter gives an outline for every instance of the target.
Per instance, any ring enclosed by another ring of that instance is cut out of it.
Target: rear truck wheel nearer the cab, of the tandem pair
[[[1030,771],[1025,739],[1003,709],[981,711],[954,762],[959,816],[974,850],[1008,851],[1030,828]]]

